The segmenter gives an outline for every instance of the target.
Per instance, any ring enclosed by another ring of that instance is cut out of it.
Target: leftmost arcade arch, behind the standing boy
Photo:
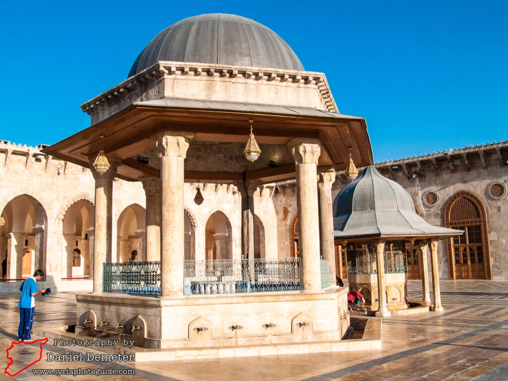
[[[0,253],[7,259],[7,278],[27,278],[46,269],[48,219],[41,203],[29,195],[10,200],[2,211],[6,224],[0,228]]]

